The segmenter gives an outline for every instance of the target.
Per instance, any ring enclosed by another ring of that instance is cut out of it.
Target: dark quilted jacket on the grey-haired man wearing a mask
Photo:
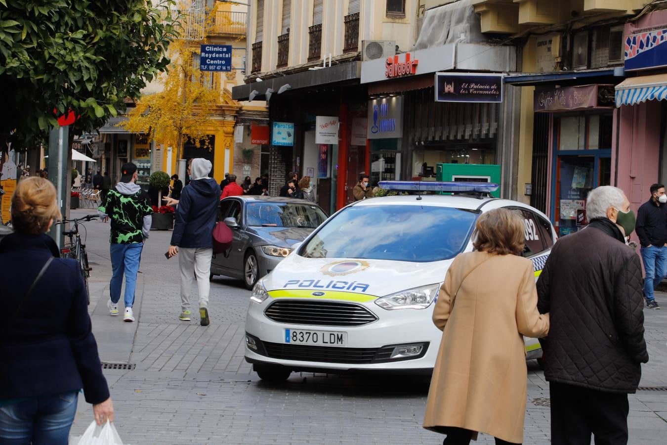
[[[635,392],[648,362],[642,266],[616,225],[593,219],[558,240],[537,287],[538,310],[550,313],[546,380]]]

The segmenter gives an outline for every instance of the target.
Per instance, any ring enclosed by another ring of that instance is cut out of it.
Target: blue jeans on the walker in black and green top
[[[134,291],[137,288],[137,272],[141,260],[143,243],[111,244],[111,302],[117,304],[121,299],[123,274],[125,274],[125,308],[134,304]]]

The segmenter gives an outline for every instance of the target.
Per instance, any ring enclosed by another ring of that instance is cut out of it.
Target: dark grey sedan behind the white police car
[[[327,219],[315,203],[270,196],[226,197],[218,217],[231,228],[233,241],[225,254],[213,256],[211,279],[240,278],[248,289]]]

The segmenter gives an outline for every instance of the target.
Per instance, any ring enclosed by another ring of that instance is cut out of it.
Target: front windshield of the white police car
[[[480,212],[428,205],[355,205],[323,226],[306,258],[432,262],[462,252]]]

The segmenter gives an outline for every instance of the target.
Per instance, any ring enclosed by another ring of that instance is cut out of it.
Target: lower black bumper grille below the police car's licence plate
[[[271,358],[306,362],[364,364],[376,361],[374,359],[377,359],[378,354],[378,348],[336,348],[268,342],[264,342],[264,347],[266,355]]]

